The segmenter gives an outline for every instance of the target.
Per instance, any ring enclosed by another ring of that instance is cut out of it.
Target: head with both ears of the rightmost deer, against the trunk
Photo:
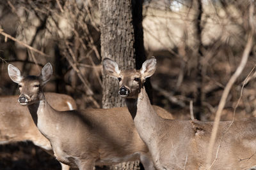
[[[137,98],[146,78],[152,76],[156,70],[156,58],[150,57],[150,59],[143,62],[140,70],[126,69],[124,71],[120,71],[115,61],[105,58],[103,60],[103,69],[106,74],[118,79],[118,94],[120,96]]]

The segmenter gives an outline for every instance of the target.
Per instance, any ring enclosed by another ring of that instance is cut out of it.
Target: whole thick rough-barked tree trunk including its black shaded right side
[[[144,57],[145,59],[143,31],[140,23],[142,21],[142,1],[102,0],[99,1],[99,11],[102,59],[108,57],[115,60],[122,69],[135,68],[137,53],[140,52],[140,56],[137,56],[137,59],[139,59],[139,57]],[[138,18],[138,16],[141,18]],[[137,25],[134,22],[139,23],[137,23]],[[134,35],[135,33],[136,35]],[[140,36],[140,38],[137,36]],[[103,75],[102,83],[102,107],[112,108],[125,106],[124,99],[118,96],[118,81],[113,81],[113,78]],[[140,169],[140,167],[138,162],[126,162],[118,166],[110,167],[110,169]]]

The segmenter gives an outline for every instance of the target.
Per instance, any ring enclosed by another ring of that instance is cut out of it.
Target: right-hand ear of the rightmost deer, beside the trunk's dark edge
[[[141,76],[146,79],[150,76],[152,76],[152,74],[154,74],[154,72],[156,71],[156,58],[154,56],[150,57],[150,59],[145,60],[145,62],[143,62],[142,67],[140,69],[140,73]]]

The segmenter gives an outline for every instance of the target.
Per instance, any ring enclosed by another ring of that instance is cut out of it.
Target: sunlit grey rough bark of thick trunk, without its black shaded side
[[[131,1],[103,0],[100,10],[101,57],[115,60],[122,69],[135,67],[134,29],[132,25]],[[103,75],[103,108],[124,106],[118,96],[118,81]]]

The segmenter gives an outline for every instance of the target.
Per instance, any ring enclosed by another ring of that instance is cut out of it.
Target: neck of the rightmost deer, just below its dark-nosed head
[[[141,88],[137,99],[125,99],[134,124],[145,143],[150,143],[157,131],[154,129],[161,125],[161,117],[154,111],[148,99],[145,88]]]

